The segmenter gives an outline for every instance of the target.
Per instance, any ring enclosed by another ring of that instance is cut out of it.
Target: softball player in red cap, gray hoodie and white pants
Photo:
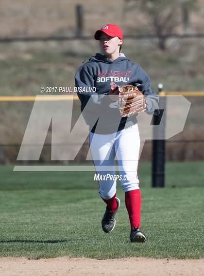
[[[141,195],[137,177],[140,137],[137,118],[121,118],[116,95],[118,91],[111,89],[110,83],[140,84],[139,90],[146,97],[145,112],[148,114],[158,109],[158,96],[152,91],[146,72],[121,53],[123,38],[119,26],[106,24],[96,31],[94,38],[99,40],[101,52],[78,68],[75,85],[82,88],[96,87],[95,93],[82,92],[78,93],[78,97],[85,122],[89,125],[89,146],[98,176],[99,194],[106,203],[102,229],[106,233],[114,229],[120,205],[116,197],[116,158],[129,214],[130,241],[143,243],[146,236],[140,231]]]

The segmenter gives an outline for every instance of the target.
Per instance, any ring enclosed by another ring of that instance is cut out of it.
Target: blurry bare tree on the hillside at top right
[[[158,46],[166,49],[167,35],[175,32],[181,24],[187,25],[189,13],[195,9],[196,0],[124,0],[129,8],[145,14],[153,34],[158,37]]]

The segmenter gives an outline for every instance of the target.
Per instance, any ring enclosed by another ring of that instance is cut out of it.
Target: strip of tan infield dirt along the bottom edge
[[[204,259],[0,258],[1,276],[203,276]]]

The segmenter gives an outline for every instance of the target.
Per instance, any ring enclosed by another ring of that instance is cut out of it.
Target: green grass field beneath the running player
[[[169,162],[166,187],[151,188],[150,163],[140,162],[141,229],[131,244],[124,193],[113,232],[105,234],[105,204],[93,172],[12,172],[1,166],[0,255],[51,258],[200,258],[203,251],[203,162]]]

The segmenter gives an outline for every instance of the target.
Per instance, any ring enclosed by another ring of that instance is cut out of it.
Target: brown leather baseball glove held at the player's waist
[[[111,83],[113,89],[114,84]],[[119,91],[119,112],[122,117],[134,116],[146,109],[146,100],[142,92],[133,85],[115,86]]]

